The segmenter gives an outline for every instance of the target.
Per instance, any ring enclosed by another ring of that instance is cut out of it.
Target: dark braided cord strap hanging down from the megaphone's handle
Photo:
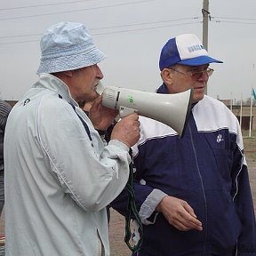
[[[132,157],[132,149],[130,149],[130,156]],[[133,161],[132,161],[133,163]],[[143,240],[143,227],[142,223],[140,220],[140,215],[137,210],[136,204],[135,204],[135,195],[134,195],[134,189],[133,189],[133,164],[129,165],[130,169],[130,174],[129,174],[129,179],[128,182],[125,186],[125,188],[128,191],[128,204],[127,204],[127,214],[124,216],[125,218],[125,236],[124,236],[124,242],[127,244],[129,249],[132,252],[138,252],[140,250],[140,245],[142,244]],[[131,244],[131,237],[132,237],[132,232],[131,232],[131,220],[134,219],[137,221],[137,224],[139,226],[139,234],[140,234],[140,239],[137,244],[133,245]]]

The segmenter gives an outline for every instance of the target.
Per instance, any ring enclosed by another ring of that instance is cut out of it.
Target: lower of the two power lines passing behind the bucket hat
[[[156,28],[169,28],[169,27],[176,27],[176,26],[183,26],[183,25],[194,25],[194,24],[199,24],[199,23],[201,23],[201,21],[178,23],[178,24],[172,24],[172,25],[162,25],[162,26],[156,26],[156,27],[150,27],[150,28],[133,28],[133,29],[118,30],[118,31],[108,31],[108,32],[99,32],[99,33],[93,33],[92,32],[92,36],[102,36],[102,35],[118,34],[118,33],[125,33],[125,32],[135,32],[135,31],[140,31],[140,30],[150,30],[150,29],[156,29]],[[118,26],[116,26],[116,28],[117,27]],[[93,30],[96,30],[96,29],[100,29],[100,28],[94,28]],[[37,35],[39,35],[39,34],[30,35],[30,36],[37,36]],[[3,44],[35,43],[35,42],[38,42],[38,41],[40,41],[40,39],[38,39],[38,40],[6,42],[6,43],[0,43],[0,45],[3,45]]]

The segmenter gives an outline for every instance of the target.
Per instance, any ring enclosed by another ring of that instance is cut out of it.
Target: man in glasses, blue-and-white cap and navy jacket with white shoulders
[[[256,226],[240,126],[219,100],[204,95],[212,59],[191,34],[163,47],[158,93],[193,89],[182,138],[140,117],[132,147],[143,242],[136,256],[255,256]],[[179,115],[179,114],[177,114]],[[125,190],[113,206],[125,213]]]

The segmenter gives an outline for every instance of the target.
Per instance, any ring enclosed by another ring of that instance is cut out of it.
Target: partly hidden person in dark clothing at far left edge
[[[12,107],[0,100],[0,216],[4,208],[4,130]]]

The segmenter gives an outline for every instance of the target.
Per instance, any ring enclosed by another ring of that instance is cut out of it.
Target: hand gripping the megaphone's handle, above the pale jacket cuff
[[[125,116],[114,127],[111,140],[119,140],[132,147],[140,139],[140,122],[138,114]]]

